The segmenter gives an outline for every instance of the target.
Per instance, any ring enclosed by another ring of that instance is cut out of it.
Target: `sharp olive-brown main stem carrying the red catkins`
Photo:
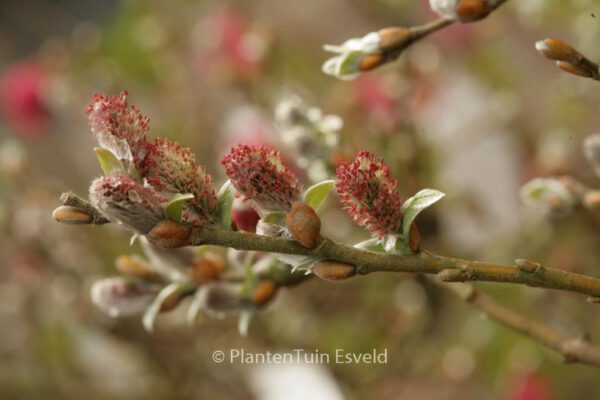
[[[211,244],[238,250],[296,254],[353,264],[359,274],[372,272],[410,272],[439,274],[444,281],[487,281],[516,283],[600,297],[600,279],[574,272],[539,266],[462,260],[422,251],[414,255],[392,255],[356,249],[324,239],[316,249],[302,247],[294,240],[217,229],[194,230],[191,245]]]

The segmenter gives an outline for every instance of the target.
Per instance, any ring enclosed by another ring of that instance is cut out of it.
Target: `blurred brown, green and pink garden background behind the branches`
[[[600,60],[595,0],[513,1],[452,26],[395,63],[343,82],[321,73],[325,43],[435,17],[426,1],[0,2],[0,398],[506,399],[591,398],[598,371],[561,358],[415,276],[373,274],[286,288],[247,337],[235,316],[153,334],[111,319],[89,295],[139,253],[116,226],[51,218],[63,191],[86,195],[100,169],[84,114],[94,92],[127,89],[151,136],[191,147],[220,184],[239,142],[294,160],[274,110],[296,95],[344,120],[335,153],[383,156],[405,198],[448,194],[420,217],[424,247],[511,263],[517,257],[600,276],[600,218],[548,219],[521,204],[536,176],[598,180],[582,157],[600,129],[598,83],[560,73],[534,42],[558,37]],[[300,168],[301,170],[301,168]],[[314,175],[314,174],[313,174]],[[305,177],[309,185],[311,172]],[[367,238],[331,196],[325,234]],[[569,293],[480,284],[504,304],[600,341],[600,309]],[[388,349],[383,365],[217,364],[217,349],[335,353]],[[282,394],[284,393],[284,394]],[[296,397],[294,397],[296,396]],[[320,397],[317,397],[320,396]]]

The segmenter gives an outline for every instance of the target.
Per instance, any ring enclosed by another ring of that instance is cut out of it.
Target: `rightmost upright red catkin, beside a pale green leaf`
[[[344,210],[379,238],[402,229],[402,199],[389,167],[367,151],[337,168],[336,187]]]

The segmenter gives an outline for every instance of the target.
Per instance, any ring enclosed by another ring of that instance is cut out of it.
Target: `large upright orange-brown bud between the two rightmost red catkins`
[[[291,211],[285,214],[285,223],[294,239],[304,247],[314,249],[323,241],[321,220],[315,210],[303,201],[292,204]]]

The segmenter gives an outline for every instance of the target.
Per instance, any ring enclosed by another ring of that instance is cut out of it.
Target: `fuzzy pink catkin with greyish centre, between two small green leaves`
[[[217,195],[212,178],[196,165],[192,151],[169,139],[156,139],[147,149],[143,170],[148,183],[158,192],[194,195],[184,207],[184,222],[197,226],[214,223]]]

